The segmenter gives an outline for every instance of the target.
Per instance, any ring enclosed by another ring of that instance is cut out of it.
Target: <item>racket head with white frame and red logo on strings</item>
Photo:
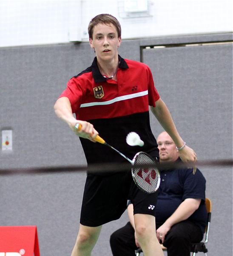
[[[134,156],[131,172],[134,183],[139,187],[139,189],[146,193],[154,193],[158,190],[160,185],[159,170],[156,167],[134,167],[134,165],[137,164],[148,163],[155,163],[155,160],[145,152],[138,152]]]

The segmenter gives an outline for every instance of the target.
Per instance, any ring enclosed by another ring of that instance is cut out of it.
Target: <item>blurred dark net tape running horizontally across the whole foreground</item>
[[[232,159],[222,160],[200,160],[194,163],[150,163],[150,164],[137,164],[135,168],[158,168],[160,170],[170,168],[192,168],[197,167],[230,167],[233,166]],[[120,172],[131,170],[130,163],[103,163],[88,166],[52,166],[52,167],[39,167],[39,168],[6,168],[0,169],[0,175],[17,175],[17,174],[36,174],[36,173],[65,173],[65,172]]]

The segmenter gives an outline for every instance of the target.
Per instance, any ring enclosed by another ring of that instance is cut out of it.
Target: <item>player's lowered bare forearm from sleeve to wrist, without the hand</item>
[[[182,140],[176,129],[170,111],[168,110],[168,107],[165,104],[165,102],[163,102],[162,99],[159,99],[158,101],[156,101],[156,107],[151,107],[151,111],[156,117],[156,119],[159,121],[159,123],[162,125],[164,130],[173,139],[176,146],[181,147],[184,144],[184,141]]]

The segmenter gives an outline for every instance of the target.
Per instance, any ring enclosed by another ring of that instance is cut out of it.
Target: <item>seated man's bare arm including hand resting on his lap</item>
[[[162,226],[160,226],[157,231],[156,231],[156,236],[158,239],[160,239],[163,243],[164,238],[170,228],[180,222],[188,219],[193,212],[195,212],[199,205],[201,203],[201,199],[196,199],[196,198],[187,198],[185,201],[183,201],[179,207],[173,212],[172,215],[165,221]]]

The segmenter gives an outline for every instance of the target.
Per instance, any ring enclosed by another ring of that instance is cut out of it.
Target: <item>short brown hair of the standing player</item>
[[[118,37],[121,37],[121,25],[119,21],[112,15],[110,14],[99,14],[95,16],[89,23],[88,26],[88,34],[89,38],[93,39],[93,29],[95,26],[97,26],[99,23],[105,24],[105,25],[110,25],[112,23],[116,29],[117,29],[117,35]]]

